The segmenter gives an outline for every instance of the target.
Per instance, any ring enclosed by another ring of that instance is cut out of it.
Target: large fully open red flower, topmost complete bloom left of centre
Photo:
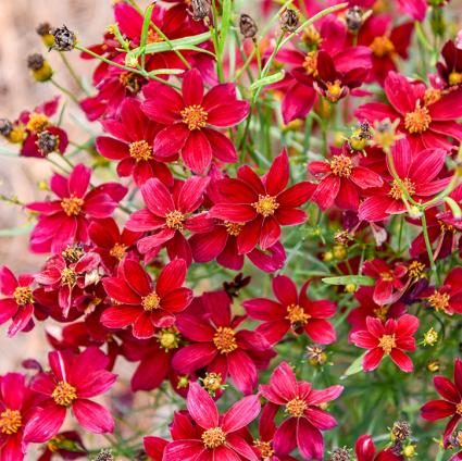
[[[222,84],[203,94],[198,70],[184,74],[182,94],[151,82],[143,88],[141,109],[153,121],[167,125],[154,140],[154,154],[171,158],[182,151],[185,165],[204,173],[216,158],[221,162],[237,161],[234,144],[216,128],[233,127],[249,114],[249,103],[236,99],[234,84]]]

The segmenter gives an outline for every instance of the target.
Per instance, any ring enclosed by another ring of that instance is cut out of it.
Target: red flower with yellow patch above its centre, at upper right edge
[[[369,102],[355,115],[371,124],[376,121],[399,121],[398,129],[405,135],[413,152],[423,149],[453,148],[448,137],[462,139],[462,88],[438,90],[421,82],[410,82],[403,75],[390,72],[385,78],[385,94],[391,105]]]

